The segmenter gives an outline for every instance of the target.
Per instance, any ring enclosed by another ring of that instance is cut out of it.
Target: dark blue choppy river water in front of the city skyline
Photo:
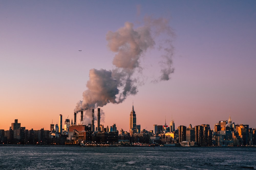
[[[0,147],[0,169],[250,168],[256,147]]]

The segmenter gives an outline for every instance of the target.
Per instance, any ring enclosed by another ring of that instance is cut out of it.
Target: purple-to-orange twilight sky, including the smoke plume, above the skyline
[[[0,1],[0,129],[95,107],[129,132],[132,105],[146,130],[256,128],[255,18],[250,0]]]

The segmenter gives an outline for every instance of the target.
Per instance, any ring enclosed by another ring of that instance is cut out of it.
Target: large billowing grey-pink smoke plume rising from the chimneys
[[[86,115],[91,115],[91,109],[103,107],[110,102],[121,103],[127,96],[135,95],[138,92],[137,87],[143,84],[143,81],[134,76],[134,73],[143,74],[140,58],[144,57],[148,49],[156,48],[162,51],[160,56],[155,57],[160,58],[158,63],[161,75],[153,82],[169,80],[170,74],[174,72],[174,33],[168,24],[169,21],[164,18],[146,17],[142,27],[134,28],[133,23],[125,22],[124,27],[116,32],[109,31],[106,40],[109,49],[116,53],[113,59],[115,68],[112,71],[90,70],[90,79],[86,85],[88,89],[83,92],[83,100],[77,102],[74,112],[89,110],[90,113],[86,111]],[[164,38],[160,43],[156,42],[162,33],[165,34],[162,36]]]

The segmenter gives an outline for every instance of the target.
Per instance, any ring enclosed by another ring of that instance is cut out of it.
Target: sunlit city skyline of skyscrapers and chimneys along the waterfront
[[[175,129],[172,119],[169,127],[153,125],[153,130],[141,130],[136,124],[134,106],[129,118],[129,132],[117,130],[116,124],[106,126],[100,124],[100,109],[98,109],[97,127],[94,126],[94,109],[92,109],[92,123],[82,125],[77,123],[77,113],[73,119],[67,118],[62,126],[62,115],[59,115],[59,124],[50,124],[50,130],[28,130],[21,127],[15,119],[9,130],[0,130],[1,144],[12,145],[107,145],[107,146],[137,146],[137,145],[162,145],[162,146],[253,146],[256,145],[256,129],[249,125],[235,125],[229,115],[228,121],[219,121],[214,129],[208,124],[192,127],[180,125]],[[83,120],[83,111],[81,111]]]

